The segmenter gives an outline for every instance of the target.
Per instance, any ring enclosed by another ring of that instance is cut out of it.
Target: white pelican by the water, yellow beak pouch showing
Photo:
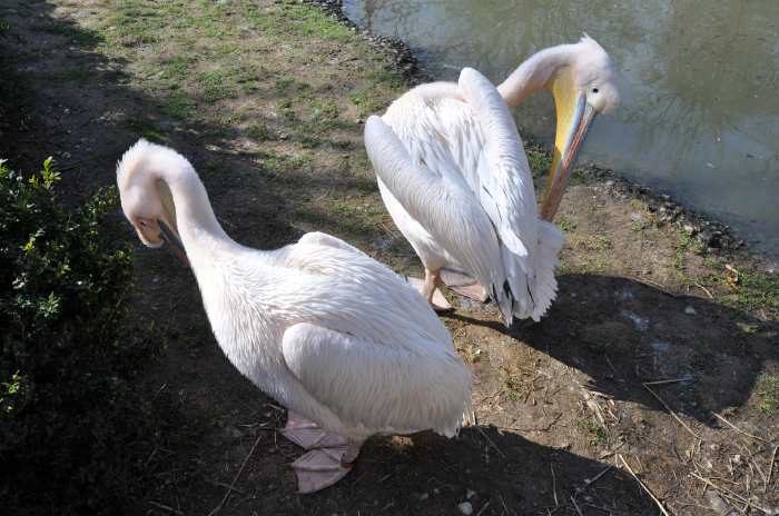
[[[540,218],[506,105],[542,89],[552,92],[558,120]],[[551,220],[565,179],[592,119],[618,101],[609,56],[585,34],[533,54],[497,89],[464,69],[458,83],[418,86],[368,121],[382,198],[425,267],[420,288],[431,304],[448,308],[437,290],[443,277],[460,294],[491,297],[507,326],[514,316],[540,319],[556,292],[563,236]],[[477,285],[463,287],[469,276]]]

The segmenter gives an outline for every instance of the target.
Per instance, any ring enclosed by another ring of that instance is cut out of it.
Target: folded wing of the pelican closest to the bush
[[[284,333],[282,347],[303,387],[342,421],[451,436],[470,411],[471,376],[453,349],[428,344],[393,346],[302,322]]]

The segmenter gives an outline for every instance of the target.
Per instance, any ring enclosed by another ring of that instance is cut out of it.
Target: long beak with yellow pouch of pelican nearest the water
[[[565,181],[584,142],[590,123],[598,115],[586,101],[586,93],[573,86],[570,72],[562,72],[552,82],[552,95],[558,115],[554,138],[554,156],[546,183],[546,197],[541,206],[541,217],[551,221],[563,198]]]

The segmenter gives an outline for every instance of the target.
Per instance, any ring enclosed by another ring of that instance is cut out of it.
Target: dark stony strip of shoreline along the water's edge
[[[410,87],[435,80],[421,68],[418,59],[405,41],[374,34],[353,22],[344,12],[343,0],[304,0],[304,2],[316,6],[339,23],[354,30],[358,37],[376,46],[391,60],[393,70],[400,73]],[[521,138],[525,148],[532,147],[550,156],[549,149],[539,143],[532,135],[521,135]],[[745,238],[741,238],[730,225],[686,207],[683,202],[669,194],[653,190],[625,178],[619,171],[599,167],[592,162],[579,163],[572,175],[575,172],[583,173],[585,180],[603,183],[609,188],[611,195],[630,197],[645,202],[660,222],[672,224],[689,237],[694,238],[702,246],[702,252],[706,255],[746,252],[757,260],[766,272],[779,272],[779,256],[756,249]]]

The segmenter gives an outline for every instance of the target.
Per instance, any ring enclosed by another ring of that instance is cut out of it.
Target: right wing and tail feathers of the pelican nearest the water
[[[460,131],[455,135],[462,149],[458,161],[500,239],[513,312],[538,320],[554,298],[562,235],[538,217],[530,165],[497,89],[476,70],[465,68],[457,93],[472,113],[472,123],[451,125]]]

